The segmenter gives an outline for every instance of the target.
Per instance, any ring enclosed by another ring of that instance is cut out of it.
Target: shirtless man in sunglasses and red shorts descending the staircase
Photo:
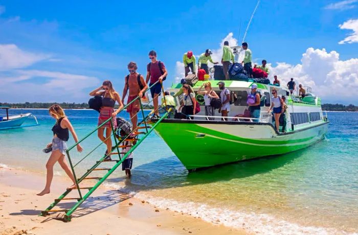
[[[137,63],[129,62],[128,71],[129,75],[127,75],[124,83],[123,89],[123,97],[122,103],[124,103],[124,98],[127,95],[127,91],[129,89],[127,104],[129,104],[132,100],[135,100],[138,96],[139,98],[130,103],[127,107],[127,112],[129,112],[130,120],[133,125],[133,130],[136,132],[138,117],[137,113],[140,110],[140,102],[139,99],[143,97],[145,90],[148,88],[147,83],[144,81],[142,75],[137,73]]]

